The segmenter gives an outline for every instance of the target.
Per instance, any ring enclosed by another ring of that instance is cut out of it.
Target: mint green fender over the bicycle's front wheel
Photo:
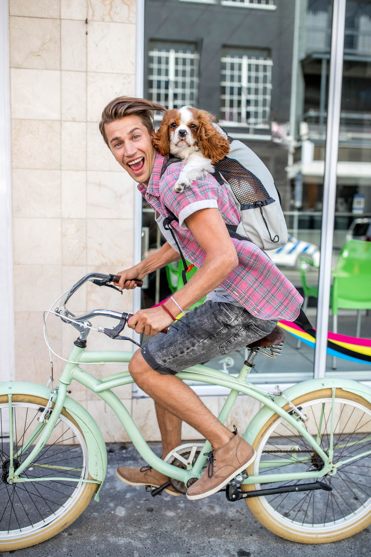
[[[0,382],[0,395],[27,394],[35,397],[50,397],[51,389],[37,383],[21,381]],[[106,477],[107,450],[102,433],[92,416],[73,398],[66,397],[64,408],[75,419],[85,437],[88,450],[88,469],[93,480],[101,482]],[[96,495],[96,499],[98,497]]]

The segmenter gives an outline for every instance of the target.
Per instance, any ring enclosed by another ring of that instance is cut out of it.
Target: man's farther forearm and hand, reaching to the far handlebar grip
[[[136,287],[136,284],[133,280],[127,280],[128,278],[144,278],[148,273],[157,271],[157,269],[179,259],[179,253],[170,246],[169,242],[166,242],[156,253],[153,253],[137,265],[117,273],[117,275],[121,275],[121,279],[120,282],[115,282],[114,284],[118,285],[120,290],[132,290]]]

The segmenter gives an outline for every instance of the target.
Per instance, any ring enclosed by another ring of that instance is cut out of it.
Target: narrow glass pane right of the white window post
[[[345,342],[348,351],[328,355],[330,377],[370,377],[363,360],[364,339],[371,337],[370,123],[371,3],[348,0],[329,318],[329,338]]]

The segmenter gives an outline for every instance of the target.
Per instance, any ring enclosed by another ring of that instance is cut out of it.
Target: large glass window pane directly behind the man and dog
[[[191,104],[209,111],[230,136],[249,146],[268,167],[289,232],[288,243],[268,254],[305,297],[306,313],[315,326],[332,3],[299,2],[296,30],[297,4],[285,0],[275,9],[273,1],[216,0],[214,4],[196,2],[190,9],[189,3],[174,0],[162,2],[159,9],[159,0],[146,0],[145,95],[167,108]],[[247,12],[239,7],[257,9],[245,17]],[[175,57],[180,55],[174,64],[184,64],[186,53],[187,63],[194,68],[188,77],[182,74],[179,82],[171,77],[175,76],[170,68],[171,50]],[[344,149],[348,144],[344,143]],[[355,144],[352,149],[344,150],[342,157],[353,160],[358,156]],[[344,182],[340,204],[350,203],[348,186]],[[164,238],[156,232],[150,207],[144,206],[143,218],[147,248],[157,249]],[[157,273],[157,281],[155,275],[149,277],[149,288],[142,289],[144,303],[150,306],[164,299],[176,285],[176,266],[167,275]],[[209,365],[233,374],[246,353],[242,348],[220,355]],[[313,377],[313,367],[313,347],[286,333],[282,355],[276,360],[259,356],[250,379],[294,383]]]

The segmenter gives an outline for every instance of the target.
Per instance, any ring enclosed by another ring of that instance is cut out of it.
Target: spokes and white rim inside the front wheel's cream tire
[[[53,524],[69,509],[73,509],[82,493],[87,492],[88,497],[92,496],[90,484],[80,481],[80,478],[88,477],[85,439],[75,422],[63,414],[58,417],[53,430],[54,441],[45,446],[36,456],[35,462],[21,473],[20,479],[29,482],[14,482],[12,485],[3,482],[2,475],[4,471],[7,472],[10,463],[8,440],[3,439],[4,416],[7,418],[4,412],[13,418],[14,471],[31,453],[31,445],[40,433],[40,429],[36,433],[33,431],[40,403],[18,401],[19,398],[11,407],[8,403],[0,404],[0,463],[1,466],[6,463],[5,468],[0,467],[0,543],[4,536],[17,540],[27,530],[41,532],[46,525]],[[56,468],[60,480],[52,479],[56,475]],[[46,481],[40,481],[43,478]],[[63,519],[60,524],[63,524]]]

